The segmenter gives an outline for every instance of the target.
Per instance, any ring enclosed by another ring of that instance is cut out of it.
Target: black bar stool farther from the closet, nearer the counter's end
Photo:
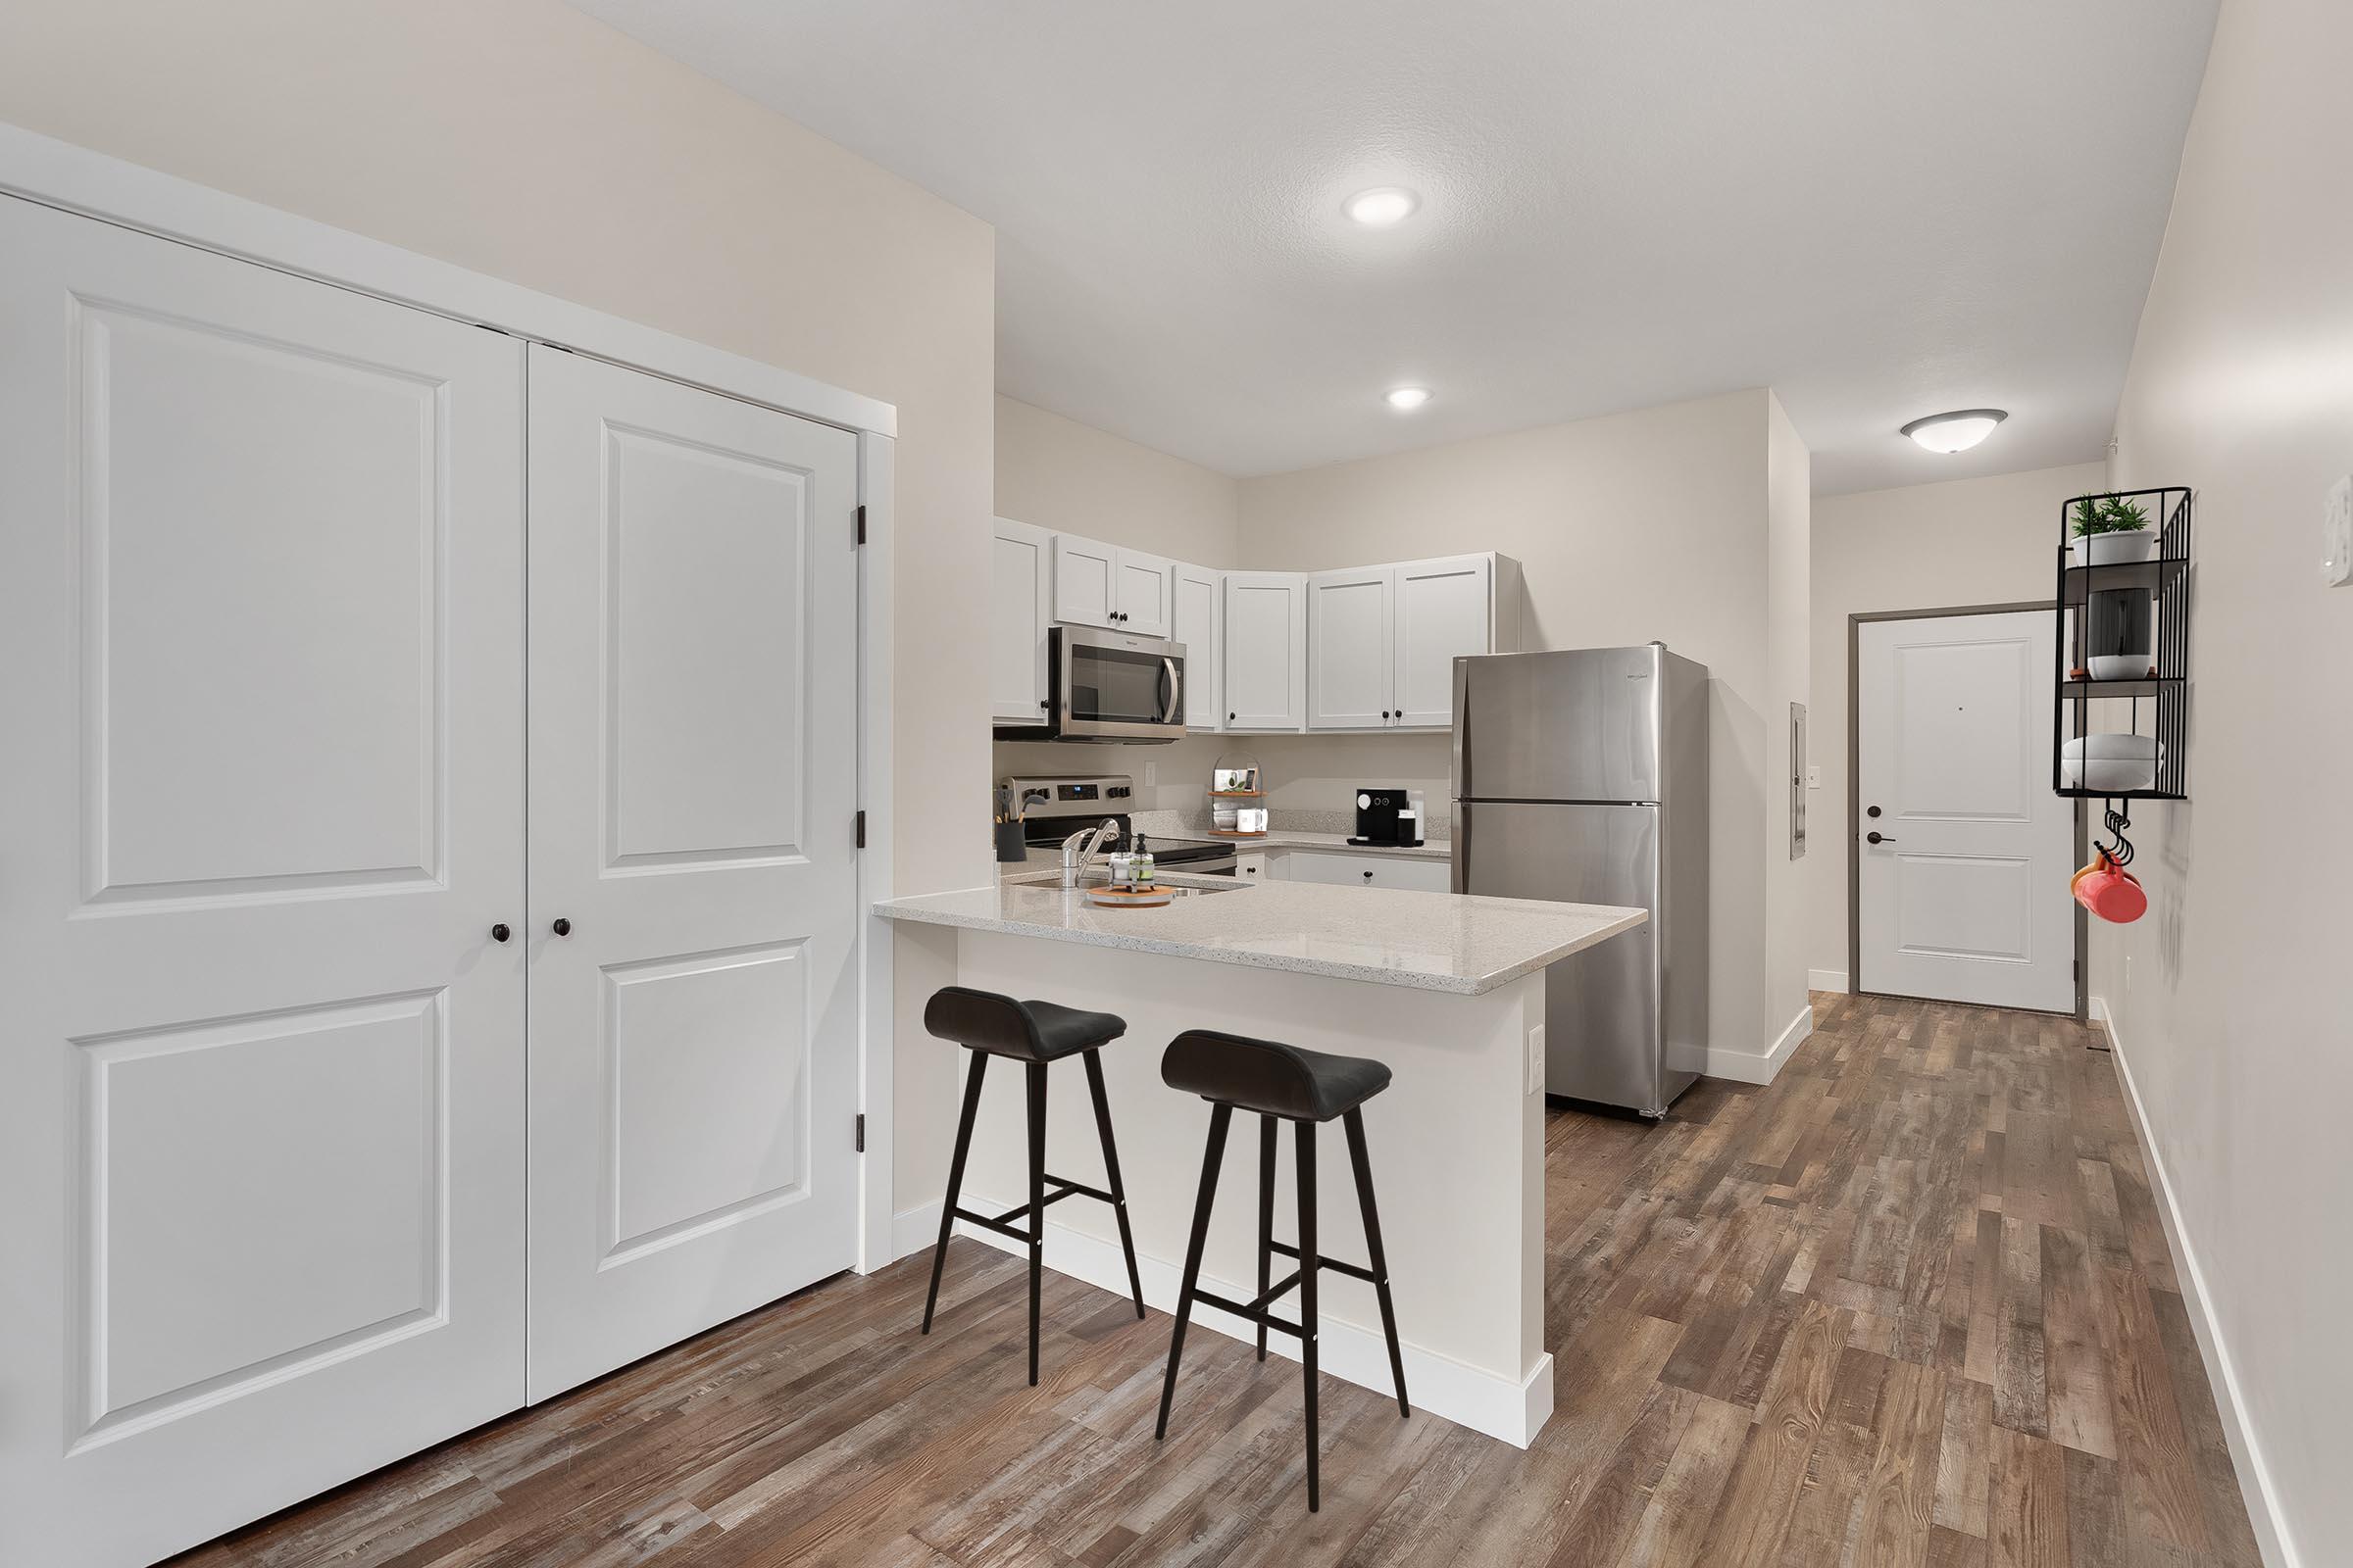
[[[1367,1281],[1381,1298],[1381,1333],[1388,1335],[1388,1373],[1398,1382],[1398,1415],[1412,1415],[1405,1403],[1405,1356],[1398,1354],[1398,1312],[1388,1300],[1388,1255],[1381,1251],[1381,1213],[1372,1206],[1372,1166],[1365,1159],[1365,1100],[1388,1088],[1388,1067],[1362,1056],[1301,1051],[1273,1039],[1186,1030],[1160,1058],[1160,1077],[1169,1088],[1198,1093],[1209,1103],[1209,1150],[1200,1161],[1200,1197],[1193,1201],[1193,1241],[1184,1255],[1184,1288],[1176,1293],[1176,1335],[1169,1340],[1169,1373],[1160,1385],[1160,1425],[1155,1439],[1169,1434],[1169,1403],[1176,1399],[1176,1359],[1184,1354],[1184,1326],[1193,1302],[1249,1319],[1259,1326],[1259,1361],[1266,1359],[1266,1331],[1280,1328],[1299,1338],[1308,1392],[1308,1512],[1320,1505],[1315,1476],[1315,1274],[1337,1269]],[[1200,1248],[1209,1239],[1209,1199],[1217,1197],[1217,1173],[1226,1159],[1226,1128],[1235,1110],[1259,1112],[1259,1295],[1249,1302],[1226,1300],[1200,1288]],[[1372,1267],[1339,1262],[1315,1251],[1315,1126],[1339,1117],[1348,1128],[1348,1161],[1355,1166],[1355,1206],[1365,1215],[1365,1251]],[[1275,1229],[1275,1121],[1299,1128],[1299,1246],[1282,1246]],[[1271,1284],[1273,1255],[1297,1258],[1299,1269]],[[1299,1288],[1299,1321],[1278,1319],[1271,1307],[1292,1286]]]

